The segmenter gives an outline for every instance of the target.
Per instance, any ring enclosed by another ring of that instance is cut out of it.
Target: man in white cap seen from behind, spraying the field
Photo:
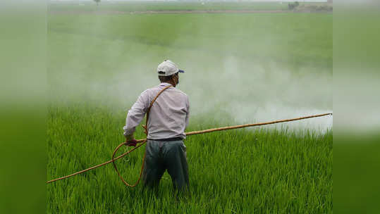
[[[124,136],[130,146],[135,146],[133,137],[135,127],[140,124],[157,94],[165,89],[154,101],[149,112],[147,130],[147,146],[145,147],[145,168],[142,181],[145,187],[158,187],[159,180],[165,170],[171,175],[174,189],[187,189],[189,184],[186,146],[183,144],[185,127],[189,120],[188,96],[176,89],[179,83],[179,70],[172,61],[164,61],[157,67],[161,84],[142,92],[133,104],[126,118]]]

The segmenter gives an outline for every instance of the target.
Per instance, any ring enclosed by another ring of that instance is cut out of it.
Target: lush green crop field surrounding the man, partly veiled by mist
[[[126,111],[158,84],[154,69],[166,58],[187,71],[178,86],[190,97],[187,131],[281,119],[266,111],[269,103],[280,113],[302,106],[282,118],[332,109],[332,14],[54,7],[75,13],[48,15],[47,180],[111,158],[124,140]],[[167,174],[152,194],[125,187],[107,165],[47,184],[47,213],[332,213],[331,127],[299,125],[188,137],[186,200],[173,197]],[[136,138],[144,138],[140,127]],[[117,162],[126,180],[137,179],[142,155]]]

